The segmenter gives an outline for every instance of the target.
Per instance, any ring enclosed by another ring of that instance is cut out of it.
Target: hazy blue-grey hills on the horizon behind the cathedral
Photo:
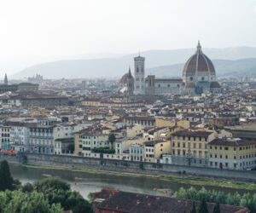
[[[227,49],[202,49],[212,59],[217,73],[254,72],[256,66],[256,48],[238,47]],[[141,53],[146,57],[146,74],[159,77],[181,76],[183,64],[195,53],[195,49],[149,50]],[[104,55],[106,56],[106,55]],[[113,56],[113,55],[112,55]],[[28,78],[36,73],[44,78],[120,78],[131,66],[133,57],[96,58],[86,60],[57,60],[36,64],[17,72],[12,78]]]

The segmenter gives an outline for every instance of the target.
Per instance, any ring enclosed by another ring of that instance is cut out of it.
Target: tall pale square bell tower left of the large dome
[[[145,94],[145,70],[144,70],[145,58],[137,56],[134,58],[134,94]]]

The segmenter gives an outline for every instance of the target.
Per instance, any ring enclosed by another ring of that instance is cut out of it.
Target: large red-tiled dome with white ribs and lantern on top
[[[183,68],[183,77],[193,75],[198,72],[210,72],[209,74],[215,75],[215,68],[212,61],[204,55],[201,51],[201,44],[198,42],[195,55],[192,55],[185,63]]]

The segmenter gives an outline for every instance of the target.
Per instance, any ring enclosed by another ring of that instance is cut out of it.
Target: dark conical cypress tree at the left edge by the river
[[[8,162],[3,160],[0,164],[0,191],[5,191],[6,189],[14,189],[14,179],[10,174]]]

